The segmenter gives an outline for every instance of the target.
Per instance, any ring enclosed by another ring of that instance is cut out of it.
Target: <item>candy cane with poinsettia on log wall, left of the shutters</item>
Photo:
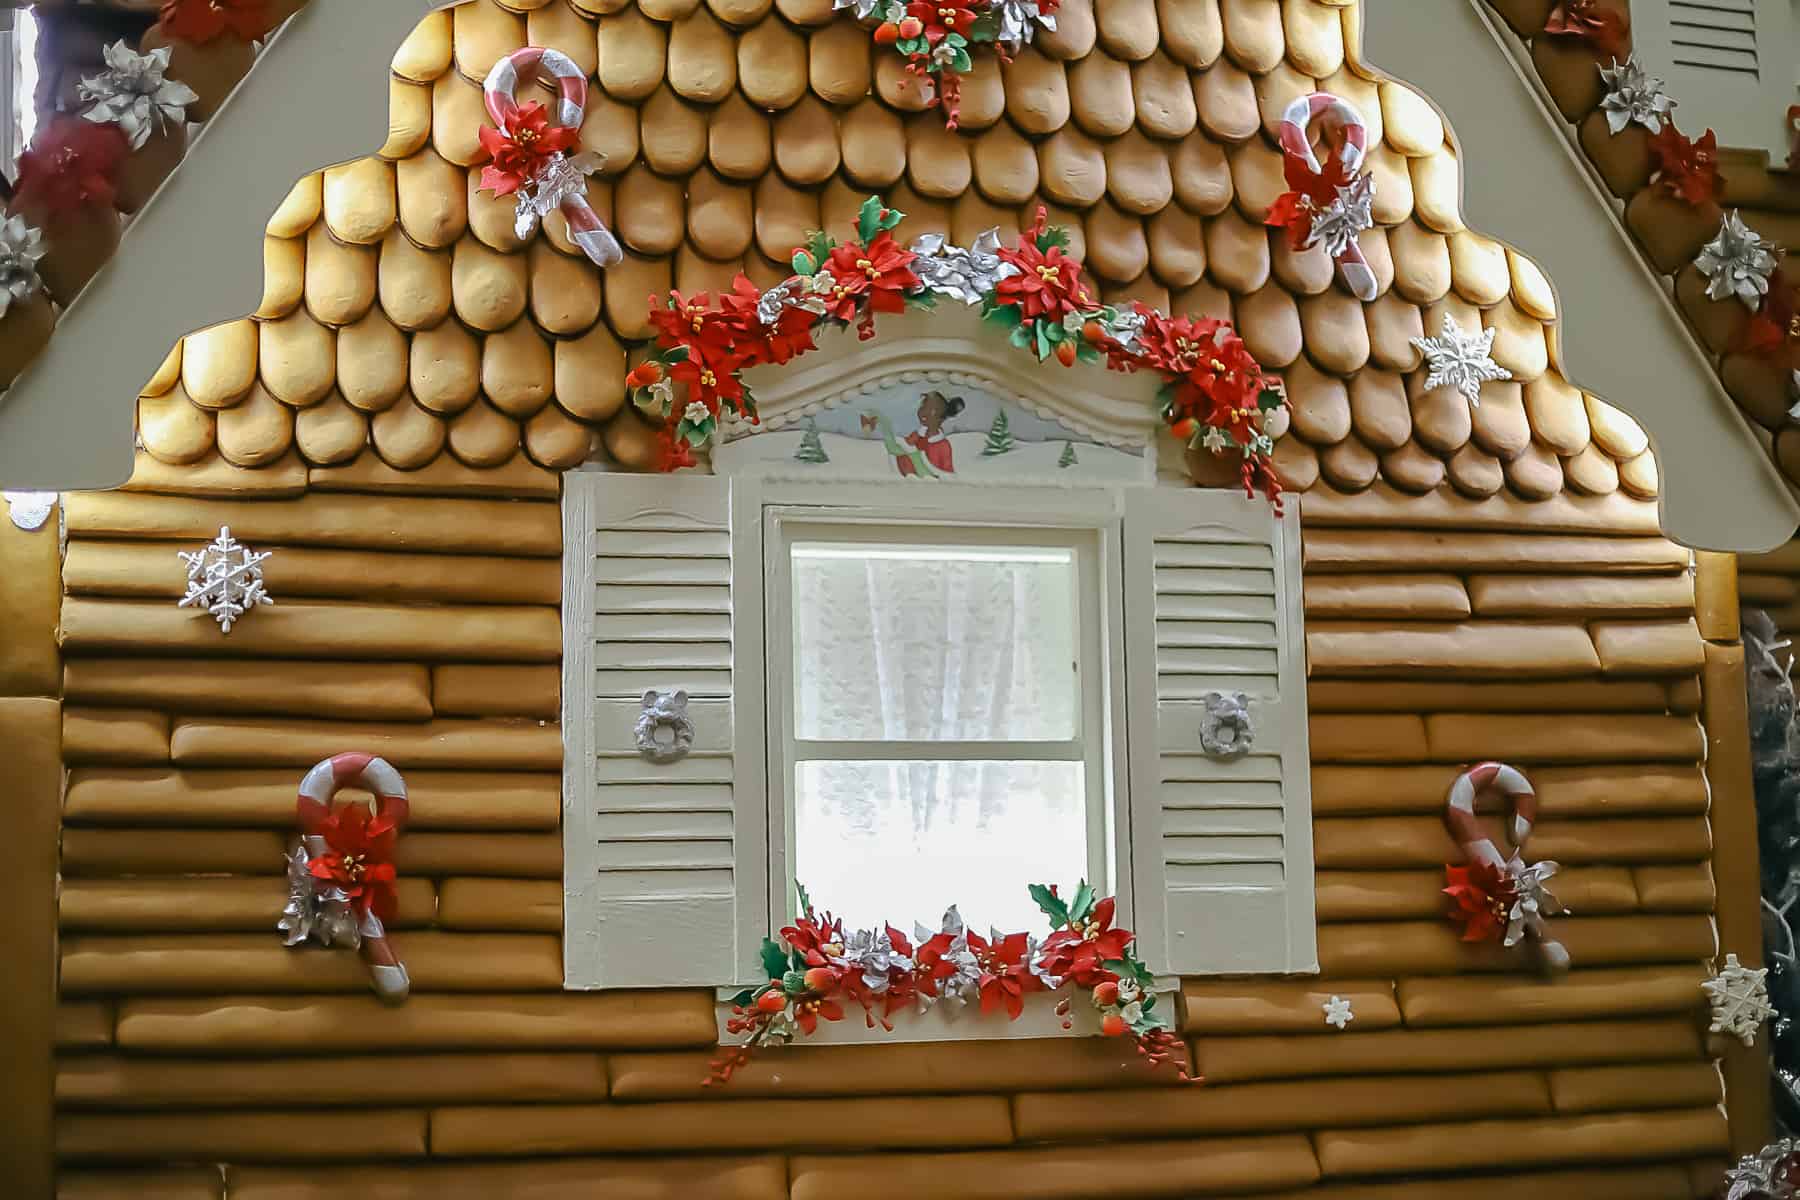
[[[360,804],[333,810],[333,797],[351,786],[374,793],[373,813]],[[367,963],[376,995],[405,1000],[412,984],[382,923],[396,905],[392,844],[407,822],[405,781],[387,759],[337,754],[306,772],[295,808],[301,846],[290,858],[293,894],[281,919],[288,945],[347,941]]]

